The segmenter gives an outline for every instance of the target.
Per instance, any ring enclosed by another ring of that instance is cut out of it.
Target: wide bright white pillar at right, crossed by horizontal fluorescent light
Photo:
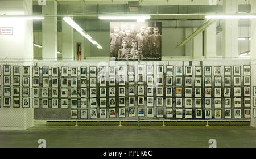
[[[235,14],[238,12],[238,0],[223,1],[223,12]],[[238,19],[223,20],[223,57],[238,57]]]

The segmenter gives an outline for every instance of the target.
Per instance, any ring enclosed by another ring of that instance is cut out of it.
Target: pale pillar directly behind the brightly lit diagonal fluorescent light
[[[64,20],[62,23],[62,59],[73,60],[74,59],[74,32],[73,28]]]

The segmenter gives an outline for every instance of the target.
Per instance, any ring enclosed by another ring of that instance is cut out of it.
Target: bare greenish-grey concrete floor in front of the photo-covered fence
[[[209,139],[217,147],[256,147],[256,129],[250,126],[48,126],[28,130],[0,130],[0,147],[203,147]]]

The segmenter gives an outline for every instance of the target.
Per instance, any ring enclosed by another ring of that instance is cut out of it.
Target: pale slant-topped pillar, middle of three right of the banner
[[[217,55],[217,36],[216,22],[205,29],[204,37],[204,56],[205,58],[216,57]]]

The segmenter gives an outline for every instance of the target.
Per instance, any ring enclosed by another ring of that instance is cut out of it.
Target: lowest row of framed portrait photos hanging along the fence
[[[147,110],[147,111],[146,111]],[[154,114],[154,110],[156,111],[156,115]],[[146,112],[145,112],[146,111]],[[196,109],[195,114],[192,114],[192,109],[185,109],[185,112],[183,113],[183,109],[176,109],[174,111],[172,108],[166,108],[164,114],[163,108],[144,108],[139,107],[137,110],[138,117],[157,117],[157,118],[196,118],[196,119],[202,119],[203,118],[203,110],[202,109]],[[107,109],[102,108],[100,109],[100,112],[97,112],[97,109],[89,109],[89,115],[87,109],[80,109],[80,119],[94,119],[94,118],[107,118],[107,114],[109,118],[125,118],[126,114],[128,117],[135,117],[135,108],[130,107],[127,109],[125,108],[119,108],[119,111],[117,113],[115,108],[109,108],[109,112],[107,112]],[[234,118],[241,118],[241,109],[234,109]],[[212,109],[205,109],[204,110],[204,118],[205,119],[222,119],[222,115],[225,119],[232,118],[232,110],[231,109],[224,109],[224,113],[222,113],[221,109],[215,109],[214,114],[212,113]],[[254,118],[256,115],[256,109],[254,108]],[[78,110],[77,109],[71,109],[71,119],[78,119]],[[243,117],[244,118],[251,118],[251,109],[243,109]]]

